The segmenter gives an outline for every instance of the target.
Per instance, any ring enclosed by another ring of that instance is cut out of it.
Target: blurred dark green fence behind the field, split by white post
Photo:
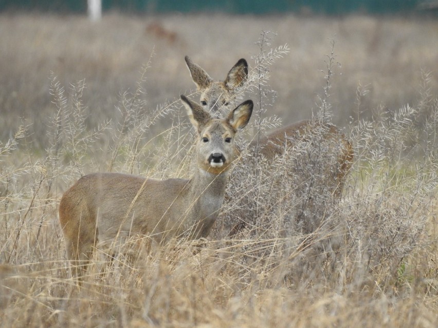
[[[421,0],[102,0],[103,10],[138,13],[226,12],[234,14],[415,12]],[[85,12],[86,0],[0,0],[0,10]]]

